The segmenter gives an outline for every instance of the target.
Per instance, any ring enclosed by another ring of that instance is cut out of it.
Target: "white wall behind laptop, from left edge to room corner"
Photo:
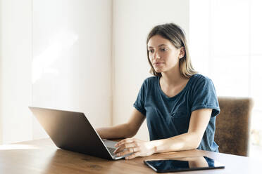
[[[29,105],[110,126],[111,0],[0,2],[0,143],[46,137]]]

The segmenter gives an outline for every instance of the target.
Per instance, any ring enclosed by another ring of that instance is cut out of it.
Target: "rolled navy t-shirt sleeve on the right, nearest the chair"
[[[194,86],[192,93],[191,112],[204,108],[213,109],[211,116],[216,116],[220,112],[215,86],[211,79],[207,78],[201,78],[196,81],[196,86]]]

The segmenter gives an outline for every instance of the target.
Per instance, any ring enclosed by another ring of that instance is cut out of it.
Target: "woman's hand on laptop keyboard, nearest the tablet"
[[[137,140],[135,138],[127,138],[116,143],[115,147],[118,147],[114,152],[117,156],[124,156],[125,154],[130,154],[130,156],[125,157],[125,159],[134,159],[137,156],[149,156],[154,154],[154,145],[151,142],[146,142],[142,140]]]

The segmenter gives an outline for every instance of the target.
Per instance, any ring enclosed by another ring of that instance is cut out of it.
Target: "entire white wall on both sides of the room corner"
[[[85,112],[95,127],[127,121],[150,76],[146,35],[164,22],[189,27],[188,0],[0,2],[4,144],[46,137],[29,105]],[[148,140],[145,124],[137,138]]]

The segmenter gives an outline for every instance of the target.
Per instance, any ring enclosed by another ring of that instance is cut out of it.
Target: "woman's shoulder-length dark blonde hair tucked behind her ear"
[[[185,48],[185,55],[179,60],[180,74],[185,78],[190,78],[192,75],[196,74],[197,72],[194,70],[191,59],[189,57],[187,40],[185,39],[185,32],[183,32],[182,28],[173,23],[157,25],[156,27],[151,29],[151,32],[149,32],[149,35],[147,36],[146,50],[149,39],[157,34],[165,39],[168,39],[175,46],[175,48]],[[153,65],[151,64],[151,61],[149,59],[149,51],[147,51],[147,60],[149,61],[149,65],[151,66],[150,73],[154,76],[162,76],[160,72],[155,71]]]

